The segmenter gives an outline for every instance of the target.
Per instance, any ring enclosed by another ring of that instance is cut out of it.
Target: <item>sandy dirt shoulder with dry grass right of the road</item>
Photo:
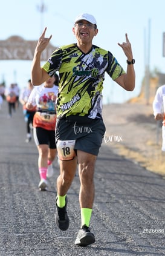
[[[141,103],[103,106],[106,134],[103,143],[115,153],[165,176],[161,151],[161,123],[154,120],[152,105]]]

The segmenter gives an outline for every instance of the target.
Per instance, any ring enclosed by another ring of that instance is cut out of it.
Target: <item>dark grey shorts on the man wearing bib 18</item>
[[[69,116],[56,120],[56,144],[58,140],[76,140],[75,150],[97,156],[105,134],[102,119]]]

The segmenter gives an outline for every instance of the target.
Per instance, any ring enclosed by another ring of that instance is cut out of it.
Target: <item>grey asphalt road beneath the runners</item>
[[[95,168],[91,231],[95,243],[74,245],[80,227],[79,177],[68,191],[70,228],[54,222],[57,162],[49,188],[37,188],[37,149],[25,143],[20,106],[7,119],[0,111],[0,255],[165,255],[165,180],[111,151],[103,143]]]

